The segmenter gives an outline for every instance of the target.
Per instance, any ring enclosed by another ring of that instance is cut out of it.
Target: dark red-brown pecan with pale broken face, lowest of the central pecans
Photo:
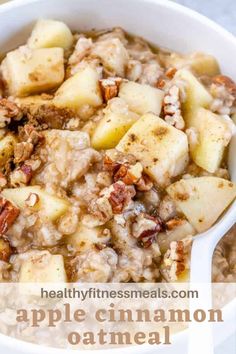
[[[138,239],[141,247],[148,248],[162,229],[162,220],[146,213],[137,216],[132,225],[132,235]]]

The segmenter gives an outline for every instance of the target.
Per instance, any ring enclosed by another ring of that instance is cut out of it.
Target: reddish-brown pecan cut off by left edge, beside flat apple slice
[[[4,234],[14,223],[20,210],[9,200],[0,197],[0,235]]]

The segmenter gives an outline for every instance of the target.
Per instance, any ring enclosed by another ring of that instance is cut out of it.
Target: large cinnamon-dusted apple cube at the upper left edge
[[[20,47],[7,54],[2,73],[8,91],[13,96],[55,89],[64,79],[63,49]]]

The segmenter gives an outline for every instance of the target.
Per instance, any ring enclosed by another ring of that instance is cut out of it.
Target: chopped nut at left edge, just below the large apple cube
[[[4,128],[11,120],[20,120],[23,117],[21,109],[6,98],[0,99],[0,128]]]

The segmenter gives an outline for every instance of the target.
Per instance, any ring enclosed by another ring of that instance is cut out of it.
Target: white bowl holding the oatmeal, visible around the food
[[[214,6],[214,4],[212,4]],[[8,51],[25,42],[32,24],[38,18],[54,18],[65,21],[73,30],[104,29],[121,26],[130,33],[140,35],[159,46],[188,53],[203,51],[214,55],[220,63],[222,72],[236,79],[236,40],[226,30],[198,13],[167,0],[17,0],[0,6],[0,45],[1,52]],[[236,139],[230,147],[229,165],[231,177],[236,181]],[[236,203],[224,214],[221,220],[203,237],[197,237],[195,250],[204,247],[213,232],[222,232],[235,222]],[[212,246],[213,247],[213,246]],[[205,253],[211,252],[206,250]],[[210,260],[209,260],[210,262]],[[194,276],[194,274],[192,274]],[[196,274],[195,274],[196,275]],[[209,280],[208,272],[205,279]],[[196,277],[195,277],[196,279]],[[201,281],[201,278],[199,279]],[[232,320],[233,308],[227,310]],[[218,343],[227,333],[219,333]],[[181,353],[186,347],[187,332],[175,336],[171,348],[158,348],[162,353]],[[47,348],[20,342],[0,335],[0,349],[3,353],[47,354],[65,353],[64,350]],[[119,349],[120,351],[120,349]],[[67,351],[68,352],[68,351]],[[90,351],[86,351],[90,354]],[[117,353],[118,349],[108,351]],[[156,349],[143,347],[122,348],[126,353],[156,352]],[[104,353],[104,351],[97,351]]]

